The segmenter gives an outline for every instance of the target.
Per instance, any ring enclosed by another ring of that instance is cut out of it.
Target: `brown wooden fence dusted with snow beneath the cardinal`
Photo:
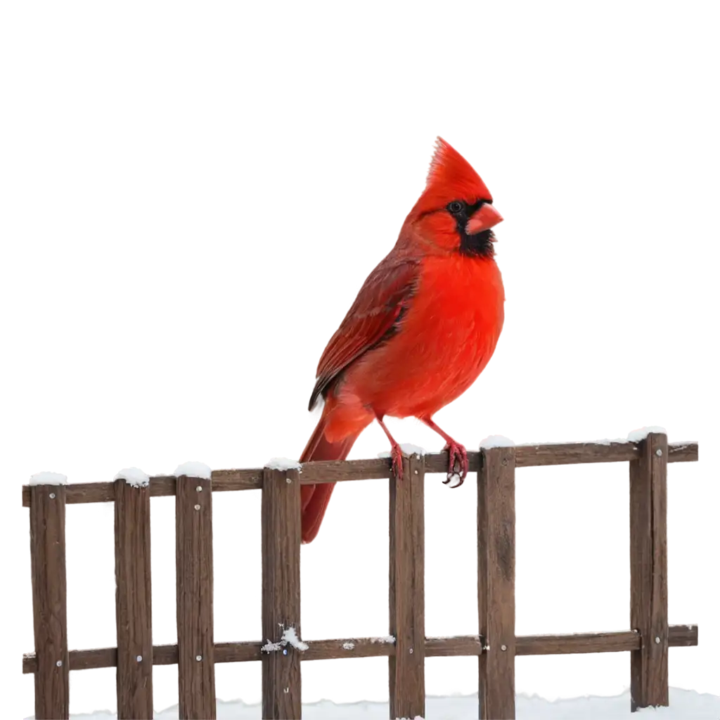
[[[479,634],[423,631],[423,479],[440,477],[446,454],[406,456],[404,479],[387,459],[313,462],[302,468],[216,470],[210,478],[150,478],[76,485],[26,485],[34,562],[35,717],[70,713],[72,670],[117,670],[120,720],[153,717],[153,665],[178,667],[181,720],[215,719],[215,664],[259,662],[263,720],[300,720],[302,665],[308,660],[387,657],[390,719],[425,715],[426,657],[477,657],[480,720],[515,717],[516,658],[629,652],[632,709],[668,703],[668,649],[698,645],[701,629],[670,620],[667,600],[669,464],[692,462],[694,443],[567,443],[484,449],[469,454],[477,518]],[[528,634],[516,629],[515,479],[523,465],[616,463],[626,467],[626,623],[629,629]],[[300,611],[300,485],[389,484],[390,635],[303,640]],[[212,636],[212,501],[216,493],[263,490],[261,629],[255,642]],[[148,528],[150,497],[176,497],[177,642],[152,644]],[[66,505],[115,503],[117,647],[71,649],[66,635]]]

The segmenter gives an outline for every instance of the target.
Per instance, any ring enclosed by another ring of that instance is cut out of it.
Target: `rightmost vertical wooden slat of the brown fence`
[[[630,581],[627,622],[639,632],[630,655],[631,711],[667,706],[670,685],[667,632],[667,435],[650,433],[626,466],[626,544]]]

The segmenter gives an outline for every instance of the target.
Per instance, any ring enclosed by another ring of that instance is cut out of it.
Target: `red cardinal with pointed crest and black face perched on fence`
[[[503,220],[476,167],[446,136],[429,143],[423,190],[400,232],[348,309],[318,363],[310,397],[323,413],[300,462],[346,459],[374,420],[400,445],[388,415],[422,420],[449,446],[459,483],[467,452],[436,426],[433,414],[473,384],[500,334],[505,295],[493,257],[492,228]],[[446,481],[447,481],[446,480]],[[317,536],[335,485],[302,485],[302,541]]]

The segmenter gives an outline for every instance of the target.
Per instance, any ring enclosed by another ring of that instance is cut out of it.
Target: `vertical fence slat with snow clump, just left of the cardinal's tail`
[[[283,642],[294,629],[302,642],[300,606],[300,480],[297,470],[263,471],[261,517],[262,720],[300,720],[302,650]]]

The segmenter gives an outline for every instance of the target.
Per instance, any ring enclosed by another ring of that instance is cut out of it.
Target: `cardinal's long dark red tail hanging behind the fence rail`
[[[305,445],[305,450],[300,455],[300,462],[311,460],[344,460],[355,443],[359,432],[353,433],[346,438],[330,443],[325,438],[325,427],[328,424],[328,405],[325,405],[323,415],[320,416],[312,436]],[[323,525],[323,518],[330,505],[330,496],[335,490],[332,482],[322,485],[302,485],[300,487],[300,503],[302,508],[302,541],[312,542]]]

